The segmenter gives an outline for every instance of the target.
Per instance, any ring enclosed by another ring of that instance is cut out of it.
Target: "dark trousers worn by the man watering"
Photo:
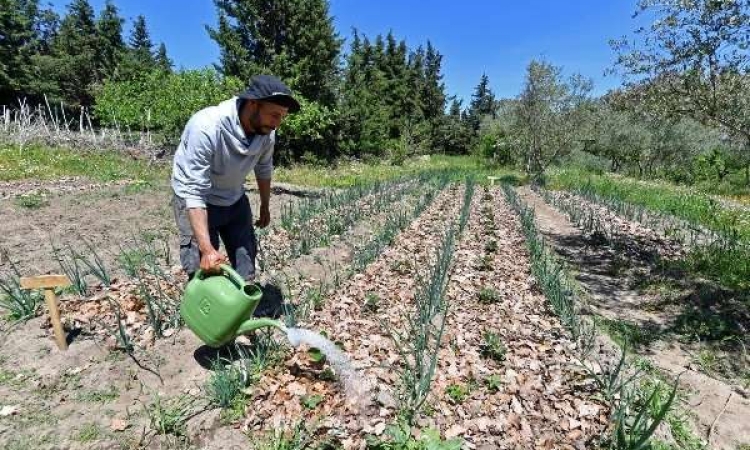
[[[200,268],[201,254],[198,241],[190,226],[185,200],[174,195],[172,207],[177,228],[180,230],[180,263],[188,277],[192,278]],[[247,196],[243,195],[230,206],[207,204],[206,213],[211,245],[218,249],[221,238],[234,270],[245,280],[252,281],[255,278],[257,243],[253,229],[253,213]]]

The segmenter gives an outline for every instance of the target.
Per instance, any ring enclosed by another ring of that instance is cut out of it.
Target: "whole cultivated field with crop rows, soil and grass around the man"
[[[16,152],[4,449],[750,446],[742,205],[564,172],[532,188],[469,158],[281,169],[259,282],[332,348],[263,330],[212,350],[178,312],[168,167]],[[73,282],[66,352],[18,289],[50,272]]]

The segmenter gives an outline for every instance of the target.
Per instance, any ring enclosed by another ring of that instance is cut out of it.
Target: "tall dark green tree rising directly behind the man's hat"
[[[335,103],[342,40],[326,0],[215,0],[219,24],[207,27],[224,75],[273,73],[309,100]]]

